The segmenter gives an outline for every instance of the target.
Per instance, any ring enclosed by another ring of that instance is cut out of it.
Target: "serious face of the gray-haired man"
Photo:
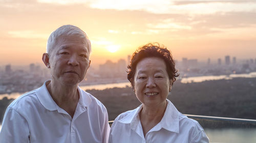
[[[77,85],[86,76],[90,66],[85,40],[76,36],[61,36],[50,53],[52,82]]]

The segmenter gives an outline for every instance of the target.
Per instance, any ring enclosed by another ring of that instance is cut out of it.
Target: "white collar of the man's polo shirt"
[[[46,88],[46,84],[49,82],[50,82],[50,80],[45,81],[45,83],[39,89],[36,90],[36,95],[37,95],[39,101],[41,102],[41,104],[46,109],[53,111],[53,110],[58,109],[58,105],[52,99],[52,96],[50,95],[50,93],[48,92],[48,90]],[[87,92],[84,92],[80,87],[77,87],[77,89],[79,92],[78,104],[83,107],[89,106],[92,102],[91,97],[88,95]]]

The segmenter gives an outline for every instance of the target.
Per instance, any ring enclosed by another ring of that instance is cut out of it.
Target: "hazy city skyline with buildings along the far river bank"
[[[126,67],[130,58],[131,56],[128,55],[126,60],[119,59],[116,63],[107,60],[97,67],[91,66],[86,79],[80,85],[127,82]],[[207,62],[183,58],[182,61],[176,61],[176,66],[180,73],[178,79],[191,76],[241,74],[256,71],[256,58],[237,60],[236,57],[227,55],[217,60],[209,58]],[[24,93],[40,87],[44,81],[50,79],[50,72],[43,65],[34,63],[19,67],[5,65],[0,67],[0,78],[0,94]]]

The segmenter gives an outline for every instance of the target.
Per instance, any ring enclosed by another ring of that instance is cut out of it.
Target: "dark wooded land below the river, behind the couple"
[[[88,90],[106,107],[109,120],[141,103],[131,87]],[[233,78],[203,82],[174,82],[168,99],[176,108],[191,115],[256,119],[256,78]],[[0,122],[13,99],[0,100]]]

